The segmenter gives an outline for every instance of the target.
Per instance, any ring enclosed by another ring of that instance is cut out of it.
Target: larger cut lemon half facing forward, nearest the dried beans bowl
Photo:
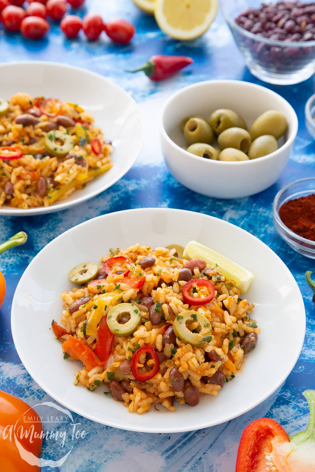
[[[217,0],[156,0],[154,16],[164,33],[188,41],[207,31],[217,9]]]

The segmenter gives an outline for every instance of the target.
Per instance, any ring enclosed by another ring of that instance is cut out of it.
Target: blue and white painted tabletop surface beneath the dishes
[[[0,268],[8,284],[7,297],[0,310],[0,388],[23,398],[30,405],[50,400],[27,374],[17,356],[11,336],[10,309],[23,271],[51,239],[88,218],[127,208],[163,206],[217,216],[246,229],[268,244],[289,267],[301,289],[306,305],[306,338],[299,360],[286,382],[262,405],[240,418],[207,430],[184,434],[123,432],[74,414],[75,421],[81,423],[80,428],[87,432],[87,436],[75,442],[71,455],[63,465],[44,467],[43,470],[111,472],[125,469],[142,472],[148,469],[150,461],[151,472],[231,472],[234,470],[243,428],[256,418],[269,416],[279,421],[291,435],[304,429],[308,408],[301,394],[305,389],[315,387],[315,307],[312,294],[304,281],[305,271],[314,270],[314,262],[293,252],[275,233],[272,224],[272,200],[276,192],[297,178],[315,174],[315,144],[304,124],[304,106],[307,98],[314,93],[313,79],[303,84],[282,87],[260,83],[244,66],[221,14],[202,38],[190,43],[180,43],[162,34],[154,19],[141,13],[131,0],[87,0],[85,9],[101,13],[104,19],[123,17],[131,21],[137,29],[132,44],[116,46],[106,37],[95,43],[88,43],[83,37],[69,41],[59,33],[57,25],[52,25],[48,39],[30,42],[16,34],[5,34],[0,27],[1,60],[51,60],[85,67],[109,76],[132,94],[147,118],[145,121],[151,123],[151,127],[148,127],[144,151],[134,167],[101,195],[62,213],[44,217],[0,218],[1,239],[21,229],[29,234],[26,246],[4,253],[0,258]],[[84,11],[81,10],[81,16]],[[160,84],[150,82],[142,74],[130,76],[123,72],[125,69],[138,67],[156,53],[189,55],[194,58],[195,64]],[[152,110],[160,110],[167,95],[185,85],[217,78],[263,84],[280,93],[298,114],[298,137],[281,179],[266,191],[240,200],[215,200],[183,187],[168,172],[158,146],[151,146],[149,141],[152,136],[153,142],[158,143],[158,131],[157,128],[154,129],[157,120],[153,118]],[[289,342],[294,342],[294,333],[288,339]],[[35,350],[36,346],[34,352]],[[42,354],[44,357],[44,353]],[[279,362],[278,359],[274,361]],[[268,375],[267,367],[262,375]],[[51,442],[44,442],[43,457],[58,458],[59,451],[59,447],[56,448]]]

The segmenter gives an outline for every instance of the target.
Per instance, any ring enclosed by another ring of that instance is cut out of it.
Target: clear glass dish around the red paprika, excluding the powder
[[[273,200],[273,224],[281,238],[284,239],[294,251],[303,256],[315,259],[315,241],[310,241],[309,239],[305,239],[293,233],[293,231],[281,221],[279,215],[280,207],[285,202],[300,197],[306,197],[310,194],[315,194],[315,177],[302,178],[282,188]]]

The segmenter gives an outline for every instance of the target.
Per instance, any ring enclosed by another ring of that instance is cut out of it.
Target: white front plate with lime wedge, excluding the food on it
[[[139,221],[146,222],[140,233]],[[106,228],[111,228],[111,232],[105,231]],[[90,244],[91,235],[95,234],[103,237]],[[195,407],[178,405],[174,413],[163,407],[159,412],[152,408],[143,415],[128,413],[127,408],[115,402],[111,395],[104,396],[102,387],[94,393],[81,385],[75,387],[74,375],[82,364],[63,360],[61,343],[54,339],[50,330],[52,319],[60,322],[60,294],[73,287],[68,280],[69,270],[81,262],[98,262],[110,247],[127,248],[137,242],[153,248],[176,243],[185,246],[192,239],[207,244],[255,274],[246,297],[255,303],[254,317],[262,332],[256,349],[248,355],[236,379],[225,384],[218,396],[203,396]],[[230,244],[231,241],[234,244]],[[305,335],[305,310],[297,283],[288,268],[255,236],[207,215],[145,208],[91,219],[44,247],[17,286],[11,327],[17,353],[26,370],[40,387],[68,409],[125,430],[180,432],[228,421],[270,396],[287,378],[298,359]],[[292,333],[294,342],[290,343]]]

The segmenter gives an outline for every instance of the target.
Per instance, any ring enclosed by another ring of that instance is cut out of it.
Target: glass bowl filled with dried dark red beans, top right
[[[221,0],[251,73],[270,84],[298,84],[315,73],[315,2]]]

